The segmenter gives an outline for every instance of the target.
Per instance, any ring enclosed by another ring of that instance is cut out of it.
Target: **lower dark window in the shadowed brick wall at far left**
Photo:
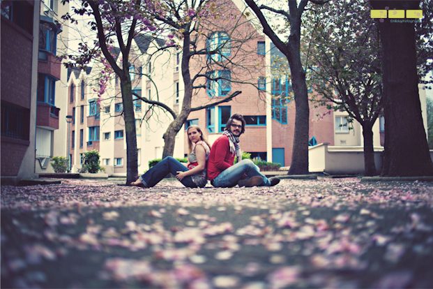
[[[1,102],[1,135],[29,140],[30,110]]]

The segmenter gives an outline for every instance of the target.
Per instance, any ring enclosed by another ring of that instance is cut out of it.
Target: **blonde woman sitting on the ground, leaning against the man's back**
[[[181,163],[176,158],[167,156],[139,177],[137,181],[133,181],[132,186],[151,188],[164,179],[169,172],[176,175],[176,179],[188,188],[206,186],[208,182],[207,161],[211,153],[211,146],[205,140],[199,126],[189,126],[187,133],[190,150],[188,163]]]

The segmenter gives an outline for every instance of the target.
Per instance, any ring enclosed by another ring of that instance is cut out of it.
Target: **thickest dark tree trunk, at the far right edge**
[[[416,10],[420,1],[371,1],[372,8]],[[379,22],[383,46],[385,152],[381,176],[433,175],[416,71],[415,29],[411,22]]]

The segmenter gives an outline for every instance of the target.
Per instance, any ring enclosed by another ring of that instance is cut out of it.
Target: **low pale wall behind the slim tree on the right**
[[[330,175],[364,175],[363,147],[330,147],[328,142],[308,148],[310,172]],[[376,175],[382,168],[383,147],[374,147]]]

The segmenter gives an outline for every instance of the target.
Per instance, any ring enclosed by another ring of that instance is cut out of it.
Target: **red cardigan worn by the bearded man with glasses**
[[[230,152],[229,138],[221,135],[212,144],[211,155],[208,159],[208,179],[209,181],[218,177],[220,173],[233,165],[235,154]]]

